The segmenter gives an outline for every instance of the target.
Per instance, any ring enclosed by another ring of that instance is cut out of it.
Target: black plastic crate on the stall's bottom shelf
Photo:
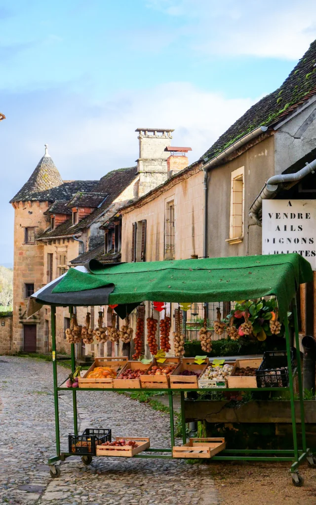
[[[68,451],[71,454],[96,456],[96,447],[111,442],[110,429],[86,428],[82,435],[68,435]]]

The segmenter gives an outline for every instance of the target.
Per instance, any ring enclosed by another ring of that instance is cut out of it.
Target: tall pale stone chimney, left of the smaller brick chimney
[[[148,193],[168,178],[166,147],[171,145],[171,133],[167,128],[137,128],[139,132],[140,155],[137,171],[140,174],[139,196]]]

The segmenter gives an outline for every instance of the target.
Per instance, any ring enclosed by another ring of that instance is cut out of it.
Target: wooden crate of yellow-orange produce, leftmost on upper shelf
[[[79,387],[111,389],[113,379],[127,363],[127,357],[96,358],[82,377],[78,377]]]

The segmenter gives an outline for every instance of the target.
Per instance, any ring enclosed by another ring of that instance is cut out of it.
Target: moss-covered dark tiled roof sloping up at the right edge
[[[272,125],[277,118],[316,93],[316,40],[299,60],[289,77],[273,93],[264,96],[239,118],[201,157],[209,160],[227,149],[239,138],[261,125]]]

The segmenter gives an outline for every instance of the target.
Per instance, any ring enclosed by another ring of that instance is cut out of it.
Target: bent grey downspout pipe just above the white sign
[[[301,168],[298,172],[295,172],[295,174],[279,174],[270,177],[250,207],[249,217],[254,219],[257,225],[262,226],[259,218],[259,212],[262,208],[262,200],[274,198],[274,196],[278,193],[279,184],[289,184],[291,186],[293,183],[295,184],[306,177],[306,175],[310,173],[313,174],[315,170],[316,160],[313,160],[310,163],[306,163],[306,166]]]

